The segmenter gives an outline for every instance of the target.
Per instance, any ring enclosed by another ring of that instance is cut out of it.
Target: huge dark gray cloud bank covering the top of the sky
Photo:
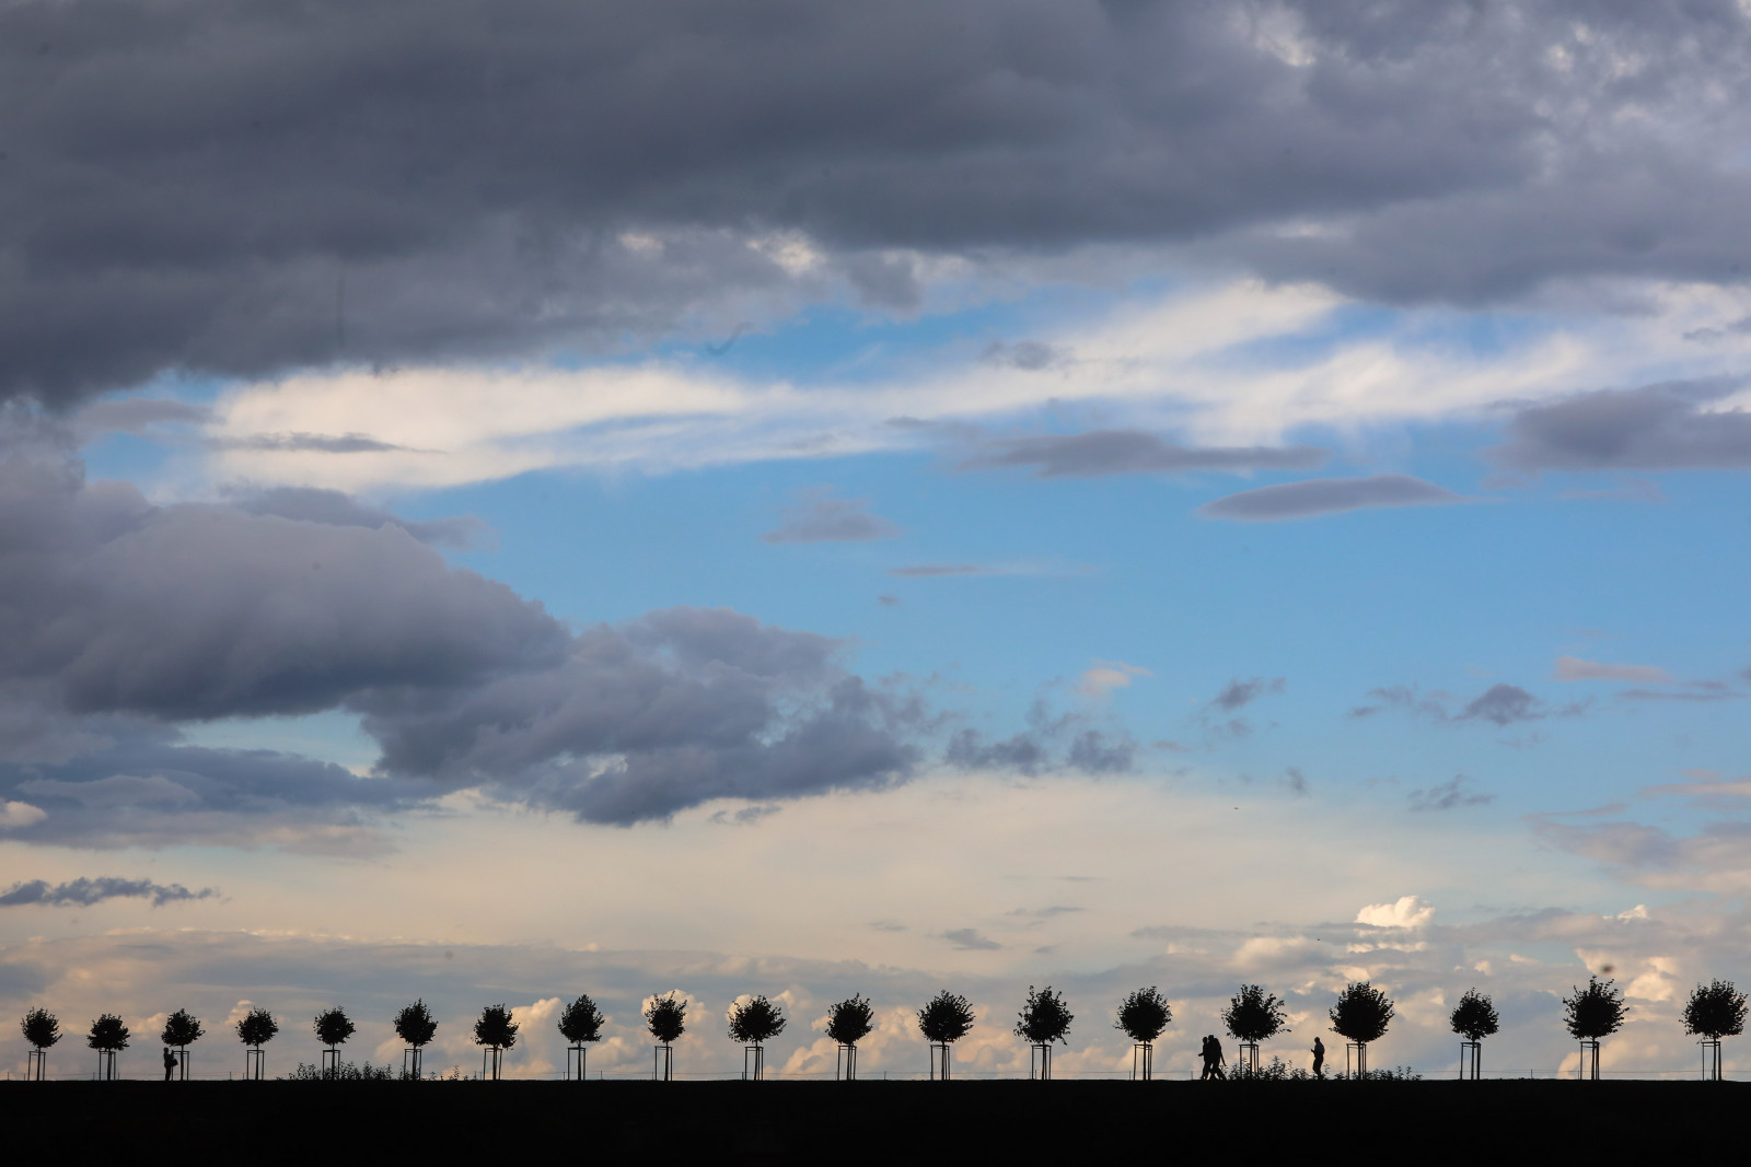
[[[1198,241],[1464,301],[1751,262],[1726,0],[19,0],[0,54],[0,392],[58,401],[716,339],[823,280],[774,231],[890,306],[897,248]]]

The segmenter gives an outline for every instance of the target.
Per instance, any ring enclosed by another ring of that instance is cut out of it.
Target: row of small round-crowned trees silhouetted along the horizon
[[[686,1032],[688,1001],[679,994],[653,997],[644,1008],[644,1025],[658,1048],[672,1046]],[[1345,985],[1338,1001],[1329,1010],[1331,1031],[1359,1048],[1362,1069],[1366,1069],[1368,1045],[1385,1036],[1392,1024],[1396,1006],[1390,997],[1369,982]],[[1698,1036],[1707,1043],[1719,1043],[1744,1032],[1747,1013],[1746,994],[1739,992],[1732,982],[1711,982],[1697,985],[1684,1006],[1684,1032]],[[1628,1018],[1628,1006],[1623,992],[1614,982],[1588,978],[1586,987],[1574,987],[1564,997],[1564,1027],[1572,1038],[1583,1043],[1583,1052],[1592,1052],[1597,1073],[1599,1041],[1609,1038],[1623,1027]],[[947,1048],[965,1038],[974,1029],[974,1006],[967,997],[953,992],[940,992],[925,1008],[918,1010],[918,1029],[932,1046],[944,1052],[942,1066],[947,1074]],[[1045,989],[1028,987],[1026,1003],[1017,1015],[1014,1034],[1030,1045],[1049,1050],[1052,1043],[1068,1043],[1070,1024],[1075,1017],[1065,1004],[1063,994],[1047,985]],[[1241,985],[1220,1015],[1227,1034],[1255,1052],[1259,1043],[1290,1032],[1287,1004],[1262,985]],[[1473,1050],[1488,1036],[1501,1029],[1501,1017],[1494,1001],[1478,992],[1467,990],[1450,1015],[1450,1025]],[[1124,997],[1117,1010],[1115,1029],[1122,1031],[1145,1053],[1173,1022],[1173,1010],[1159,989],[1138,989]],[[559,1032],[578,1050],[578,1069],[583,1073],[583,1050],[602,1039],[606,1018],[588,994],[569,1003],[559,1018]],[[762,1050],[784,1032],[784,1011],[763,996],[737,1001],[728,1011],[728,1036],[753,1050]],[[861,994],[832,1004],[826,1011],[826,1036],[840,1050],[854,1053],[858,1041],[867,1038],[876,1025],[874,1008]],[[54,1046],[61,1038],[60,1020],[47,1010],[37,1008],[25,1013],[21,1022],[25,1039],[40,1053]],[[238,1039],[257,1053],[256,1073],[259,1074],[259,1052],[278,1032],[280,1025],[273,1015],[263,1008],[250,1010],[233,1029]],[[326,1052],[338,1059],[340,1046],[355,1032],[352,1018],[341,1008],[324,1010],[312,1022],[312,1031],[326,1046]],[[494,1078],[499,1076],[499,1059],[504,1050],[517,1045],[518,1022],[504,1004],[489,1004],[475,1022],[473,1041],[487,1055],[487,1066]],[[408,1004],[394,1017],[394,1031],[415,1053],[413,1076],[418,1076],[418,1052],[438,1034],[438,1020],[425,1006],[424,999]],[[166,1046],[186,1052],[207,1031],[187,1010],[177,1010],[165,1020],[159,1034]],[[93,1050],[114,1055],[128,1048],[131,1034],[119,1017],[103,1013],[86,1034],[86,1045]],[[1718,1046],[1716,1046],[1718,1048]],[[854,1059],[851,1060],[854,1066]],[[760,1060],[755,1060],[758,1076]],[[1143,1062],[1147,1076],[1147,1059]],[[1476,1067],[1476,1062],[1473,1062]],[[1716,1076],[1719,1059],[1716,1057]]]

